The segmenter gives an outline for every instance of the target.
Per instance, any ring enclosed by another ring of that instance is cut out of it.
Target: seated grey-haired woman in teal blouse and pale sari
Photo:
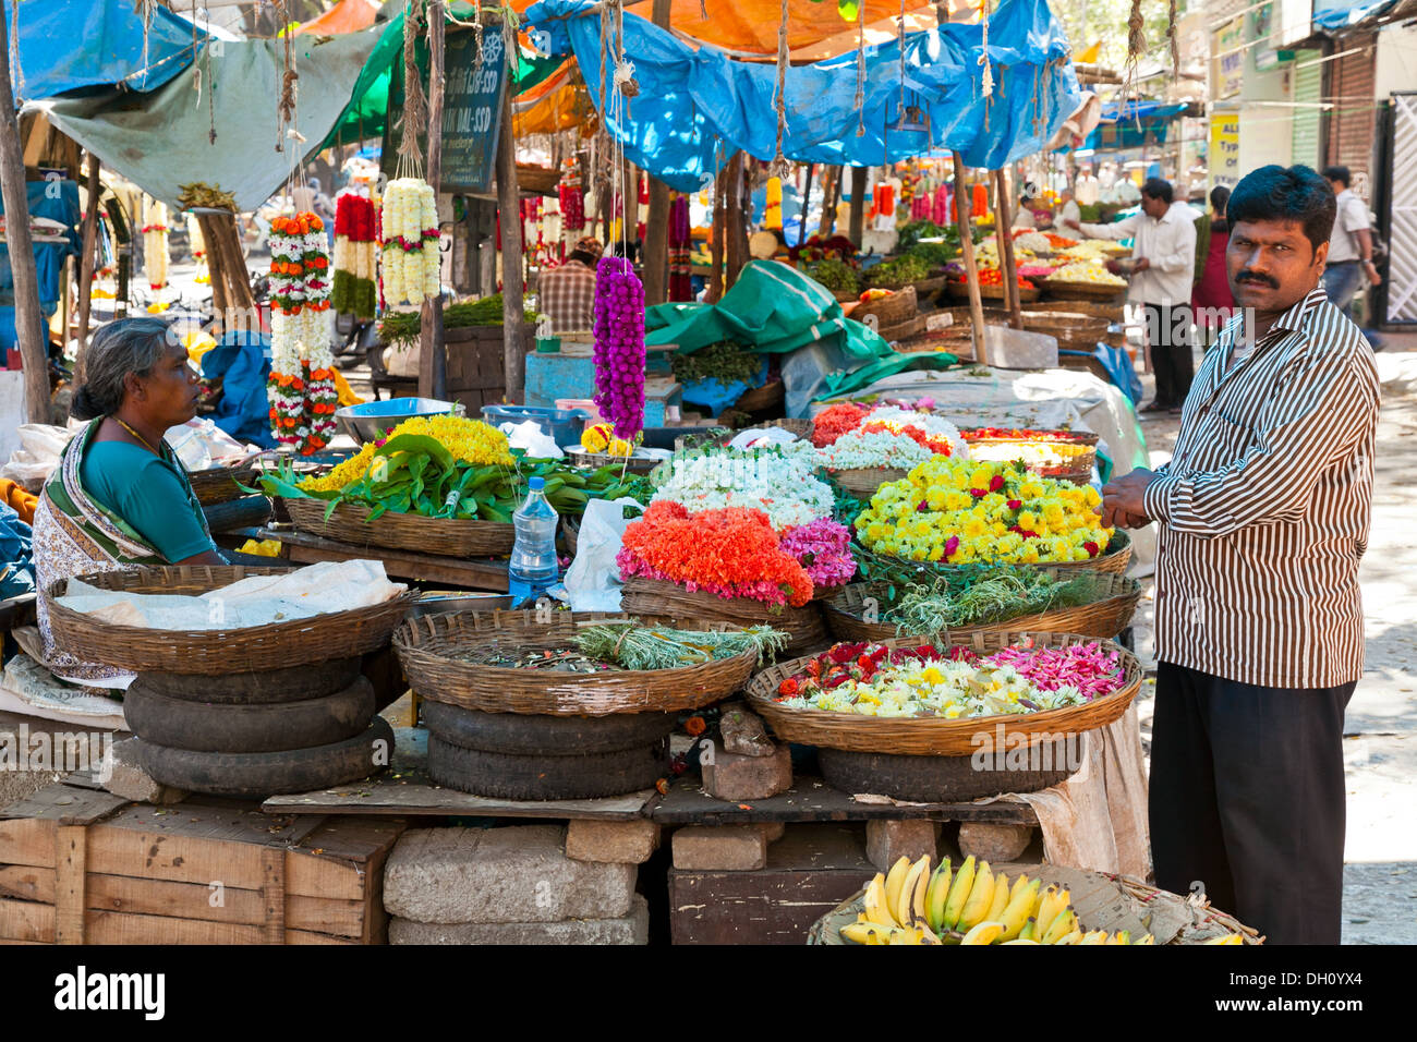
[[[84,573],[225,564],[181,461],[163,441],[197,413],[197,373],[179,337],[159,319],[122,319],[94,335],[84,362],[71,413],[91,422],[64,449],[34,516],[40,590]],[[55,648],[44,597],[37,607],[55,675],[91,683],[123,676]]]

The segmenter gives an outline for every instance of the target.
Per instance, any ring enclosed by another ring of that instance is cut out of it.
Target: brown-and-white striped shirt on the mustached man
[[[1206,353],[1145,492],[1161,529],[1156,658],[1267,688],[1357,680],[1373,352],[1322,288],[1231,359],[1243,322]]]

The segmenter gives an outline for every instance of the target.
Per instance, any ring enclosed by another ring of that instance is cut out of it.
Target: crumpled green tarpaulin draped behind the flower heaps
[[[819,282],[777,261],[751,261],[718,303],[662,303],[645,312],[645,342],[673,343],[683,353],[723,340],[784,360],[788,415],[808,403],[846,394],[907,369],[948,369],[944,352],[901,354],[874,330],[842,313]]]

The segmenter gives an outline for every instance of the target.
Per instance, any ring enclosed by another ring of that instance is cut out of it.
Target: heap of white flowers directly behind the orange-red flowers
[[[816,478],[815,466],[815,461],[801,455],[768,449],[682,456],[672,462],[655,500],[669,500],[690,510],[752,508],[761,510],[775,530],[784,532],[832,516],[832,489]]]

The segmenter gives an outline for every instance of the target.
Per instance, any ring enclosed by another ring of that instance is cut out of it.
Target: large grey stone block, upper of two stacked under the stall
[[[567,858],[560,825],[410,829],[384,868],[384,907],[418,923],[621,919],[635,876]]]

